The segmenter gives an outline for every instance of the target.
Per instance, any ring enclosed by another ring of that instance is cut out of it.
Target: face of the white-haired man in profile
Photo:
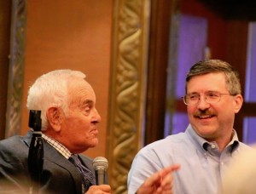
[[[74,80],[68,86],[70,101],[67,116],[61,123],[61,135],[65,145],[73,153],[79,153],[98,144],[97,123],[101,117],[96,111],[96,94],[86,81]]]

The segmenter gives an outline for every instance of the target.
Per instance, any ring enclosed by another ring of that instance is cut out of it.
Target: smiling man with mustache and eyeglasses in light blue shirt
[[[234,157],[251,149],[238,140],[233,128],[243,98],[238,73],[222,60],[203,60],[189,70],[185,96],[189,126],[184,133],[143,147],[128,175],[128,193],[143,193],[144,181],[162,168],[172,170],[174,194],[213,194]],[[143,185],[143,186],[142,186]],[[156,192],[157,182],[148,193]],[[148,190],[149,191],[149,190]]]

